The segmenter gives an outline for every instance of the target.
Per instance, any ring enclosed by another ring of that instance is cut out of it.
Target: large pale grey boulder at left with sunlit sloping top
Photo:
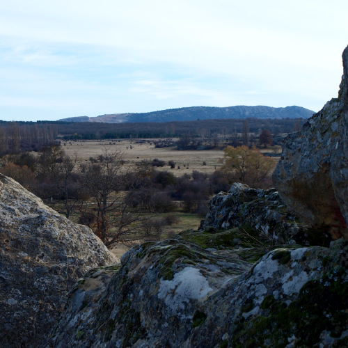
[[[74,283],[118,262],[89,228],[1,174],[0,255],[1,347],[42,346]]]

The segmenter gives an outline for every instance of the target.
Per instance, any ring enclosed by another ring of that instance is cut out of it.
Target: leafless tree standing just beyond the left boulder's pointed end
[[[122,151],[106,147],[85,168],[84,183],[95,203],[90,210],[95,216],[95,234],[106,246],[139,237],[141,214],[133,196],[141,187],[141,177],[132,175],[129,182],[128,171]]]

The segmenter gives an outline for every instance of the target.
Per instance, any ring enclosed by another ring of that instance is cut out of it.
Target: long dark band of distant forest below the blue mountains
[[[248,118],[248,132],[258,134],[262,129],[277,136],[301,129],[304,118],[260,119]],[[180,122],[4,122],[0,121],[0,154],[6,152],[37,151],[43,145],[64,140],[89,139],[153,139],[216,137],[242,133],[245,120],[195,120]]]

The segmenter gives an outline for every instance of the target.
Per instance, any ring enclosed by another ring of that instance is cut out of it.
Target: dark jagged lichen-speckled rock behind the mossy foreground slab
[[[251,189],[235,183],[226,192],[220,192],[209,202],[209,212],[200,229],[212,226],[218,230],[243,227],[264,235],[275,243],[318,244],[299,215],[291,212],[280,199],[276,189]],[[295,237],[296,236],[296,237]],[[301,239],[301,240],[300,240]],[[317,233],[320,243],[329,242],[329,233]]]

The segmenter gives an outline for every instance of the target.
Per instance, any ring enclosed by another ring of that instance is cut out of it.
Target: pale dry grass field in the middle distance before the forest
[[[63,149],[70,156],[76,152],[80,161],[88,161],[90,157],[101,155],[105,147],[111,151],[120,149],[123,152],[123,158],[131,166],[143,159],[160,159],[166,161],[166,166],[157,169],[170,171],[176,176],[192,173],[192,171],[212,173],[222,165],[223,150],[178,151],[175,148],[155,148],[153,143],[136,143],[137,141],[139,139],[125,139],[116,143],[111,141],[71,141],[67,142]],[[171,169],[168,166],[168,161],[175,161],[175,168]],[[180,166],[180,169],[177,166]]]

